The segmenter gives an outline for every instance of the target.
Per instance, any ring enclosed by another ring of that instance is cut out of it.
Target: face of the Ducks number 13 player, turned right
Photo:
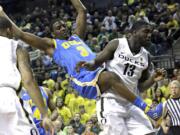
[[[136,31],[137,40],[142,46],[151,44],[151,34],[152,28],[150,26],[144,26]]]

